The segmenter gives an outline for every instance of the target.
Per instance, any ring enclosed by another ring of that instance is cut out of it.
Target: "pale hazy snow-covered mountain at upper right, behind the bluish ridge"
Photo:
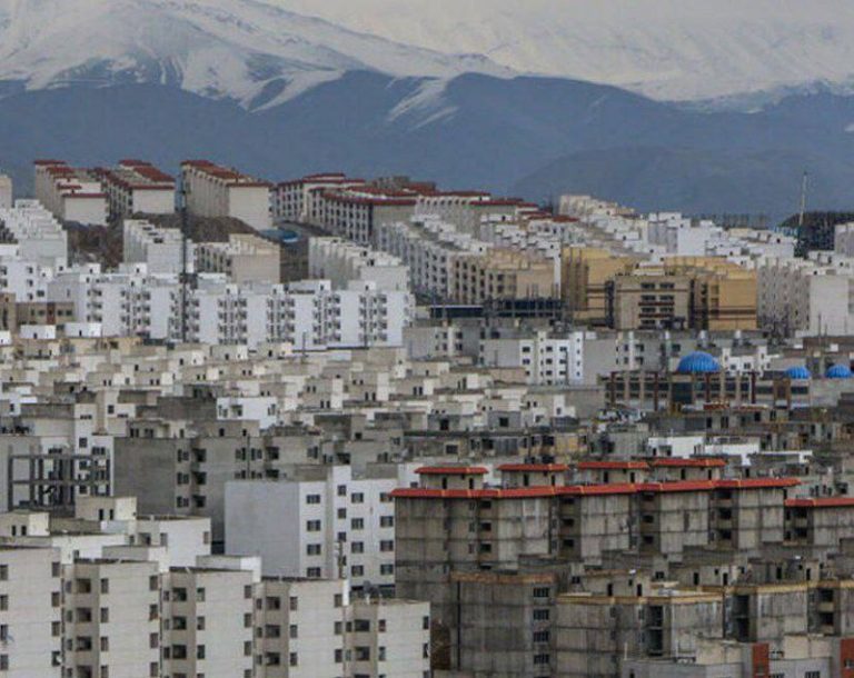
[[[854,82],[851,0],[268,0],[519,72],[696,100]]]

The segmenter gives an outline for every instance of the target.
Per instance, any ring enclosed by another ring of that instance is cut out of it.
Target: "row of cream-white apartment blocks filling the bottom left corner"
[[[87,498],[0,515],[0,672],[10,678],[429,675],[429,606],[347,580],[265,577],[210,555],[210,521]]]

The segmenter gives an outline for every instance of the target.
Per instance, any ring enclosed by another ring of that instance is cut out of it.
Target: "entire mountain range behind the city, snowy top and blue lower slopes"
[[[41,156],[203,156],[775,217],[808,171],[812,206],[854,201],[840,0],[394,4],[0,0],[0,166],[21,192]]]

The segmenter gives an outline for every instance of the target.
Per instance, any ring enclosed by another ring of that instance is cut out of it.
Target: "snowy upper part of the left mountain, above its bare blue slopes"
[[[354,70],[508,72],[256,0],[0,0],[0,80],[30,90],[155,82],[259,108]]]

